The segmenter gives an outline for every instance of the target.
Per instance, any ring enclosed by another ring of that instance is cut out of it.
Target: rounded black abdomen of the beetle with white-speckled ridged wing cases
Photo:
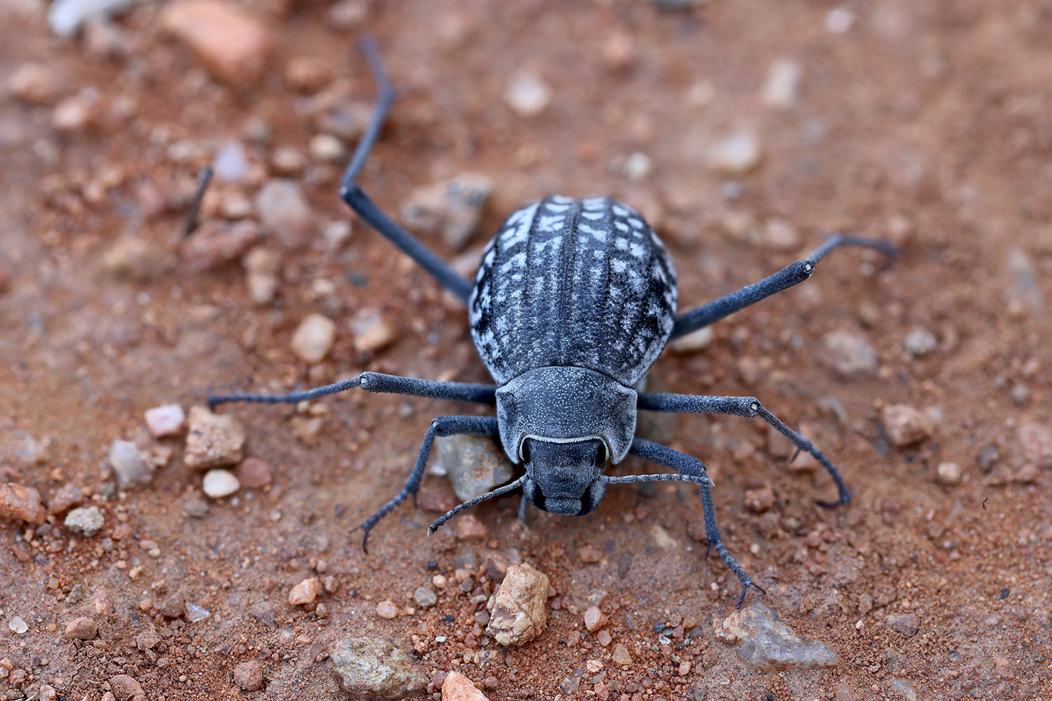
[[[520,209],[489,242],[468,300],[493,379],[573,366],[634,387],[675,322],[675,270],[634,209],[552,197]]]

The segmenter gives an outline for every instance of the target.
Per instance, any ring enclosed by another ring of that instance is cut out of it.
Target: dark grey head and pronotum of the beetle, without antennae
[[[501,442],[526,466],[526,498],[553,514],[584,515],[603,499],[606,461],[635,433],[635,391],[594,370],[529,370],[497,390]]]

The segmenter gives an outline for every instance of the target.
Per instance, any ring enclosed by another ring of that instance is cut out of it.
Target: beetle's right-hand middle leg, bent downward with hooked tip
[[[817,501],[820,507],[832,509],[834,507],[846,507],[851,503],[851,492],[848,491],[844,478],[841,477],[836,466],[825,456],[814,445],[786,426],[777,416],[767,411],[760,399],[746,396],[714,396],[708,394],[665,394],[659,392],[640,393],[640,409],[646,411],[663,411],[675,414],[728,414],[730,416],[758,416],[774,429],[788,438],[797,449],[810,453],[814,456],[829,476],[836,482],[838,498],[836,501]]]

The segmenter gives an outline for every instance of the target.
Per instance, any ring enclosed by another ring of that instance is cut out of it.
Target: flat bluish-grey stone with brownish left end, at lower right
[[[735,646],[753,667],[835,666],[836,652],[817,640],[801,638],[762,601],[739,609],[715,627],[716,638]]]

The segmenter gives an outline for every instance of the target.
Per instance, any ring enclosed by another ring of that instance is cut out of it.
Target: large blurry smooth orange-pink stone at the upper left
[[[164,5],[161,24],[220,80],[254,85],[266,69],[270,39],[266,27],[222,0],[178,0]]]

